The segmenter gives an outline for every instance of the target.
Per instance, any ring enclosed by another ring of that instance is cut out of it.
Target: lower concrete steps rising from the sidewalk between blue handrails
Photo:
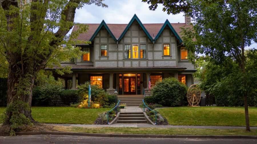
[[[117,124],[147,124],[143,112],[120,113]]]

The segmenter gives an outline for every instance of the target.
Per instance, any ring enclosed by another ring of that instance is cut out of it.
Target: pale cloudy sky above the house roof
[[[102,20],[113,24],[128,24],[134,14],[142,23],[164,23],[168,19],[171,23],[184,23],[184,13],[177,15],[168,15],[162,11],[162,5],[159,5],[155,11],[149,10],[149,5],[142,0],[105,0],[103,3],[108,7],[97,7],[96,5],[84,5],[77,9],[74,22],[79,23],[101,23]],[[71,34],[71,31],[68,33]],[[257,48],[257,44],[248,48]]]

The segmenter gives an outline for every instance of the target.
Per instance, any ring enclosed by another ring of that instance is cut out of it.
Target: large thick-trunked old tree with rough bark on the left
[[[86,32],[88,27],[66,36],[74,26],[76,9],[103,0],[1,0],[0,52],[8,62],[7,108],[3,126],[11,134],[20,125],[38,124],[31,116],[31,100],[37,73],[53,63],[78,57],[80,48],[69,40]],[[82,43],[88,43],[83,42]],[[59,73],[70,73],[70,67]]]

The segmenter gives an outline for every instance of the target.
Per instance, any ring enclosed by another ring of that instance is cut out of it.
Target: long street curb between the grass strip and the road
[[[0,133],[0,136],[9,136],[9,133]],[[134,137],[134,138],[189,138],[189,139],[257,139],[254,135],[143,135],[143,134],[104,134],[104,133],[78,133],[78,132],[17,132],[16,135],[74,135],[89,137]]]

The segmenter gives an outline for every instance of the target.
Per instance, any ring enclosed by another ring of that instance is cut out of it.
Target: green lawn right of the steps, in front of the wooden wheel
[[[257,126],[257,108],[249,107],[250,126]],[[170,125],[245,126],[243,107],[172,107],[158,109]]]

